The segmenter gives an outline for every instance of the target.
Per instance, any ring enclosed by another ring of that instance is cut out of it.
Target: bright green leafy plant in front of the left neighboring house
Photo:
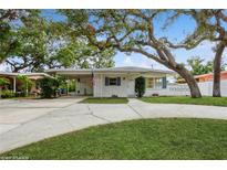
[[[28,96],[33,85],[33,82],[27,75],[18,75],[17,79],[20,81],[20,83],[22,83],[21,91],[23,96]]]

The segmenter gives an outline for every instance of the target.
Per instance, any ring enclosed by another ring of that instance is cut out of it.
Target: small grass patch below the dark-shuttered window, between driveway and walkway
[[[127,104],[127,98],[124,97],[90,97],[83,99],[83,104]]]

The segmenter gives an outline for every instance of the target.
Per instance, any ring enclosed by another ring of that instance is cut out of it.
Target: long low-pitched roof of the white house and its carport
[[[109,67],[109,68],[59,68],[59,70],[47,70],[45,73],[83,73],[83,74],[92,74],[93,73],[164,73],[164,74],[176,74],[172,71],[164,70],[153,70],[137,66],[122,66],[122,67]]]

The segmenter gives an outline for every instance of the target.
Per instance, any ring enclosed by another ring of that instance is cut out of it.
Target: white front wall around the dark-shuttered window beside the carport
[[[105,77],[121,77],[121,86],[105,86]],[[133,97],[135,96],[135,81],[127,74],[95,74],[94,75],[94,97]]]

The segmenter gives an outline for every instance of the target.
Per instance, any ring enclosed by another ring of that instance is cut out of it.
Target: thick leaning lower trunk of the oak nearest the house
[[[190,96],[193,98],[200,98],[200,89],[194,76],[183,66],[179,66],[175,70],[186,82],[190,89]]]

